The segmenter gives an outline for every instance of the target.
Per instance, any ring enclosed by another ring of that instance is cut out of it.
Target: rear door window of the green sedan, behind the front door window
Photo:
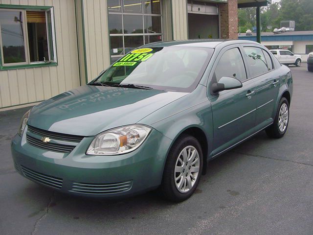
[[[251,77],[268,71],[262,49],[259,47],[244,47]]]

